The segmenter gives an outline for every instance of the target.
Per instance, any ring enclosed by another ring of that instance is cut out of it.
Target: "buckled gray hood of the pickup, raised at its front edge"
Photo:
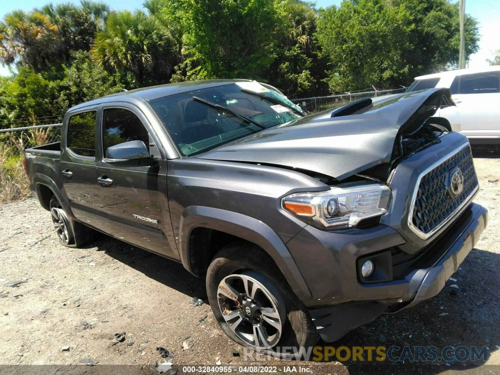
[[[290,168],[326,184],[386,181],[398,162],[450,130],[432,117],[443,103],[452,104],[446,88],[381,96],[354,112],[347,105],[307,115],[195,157]]]

